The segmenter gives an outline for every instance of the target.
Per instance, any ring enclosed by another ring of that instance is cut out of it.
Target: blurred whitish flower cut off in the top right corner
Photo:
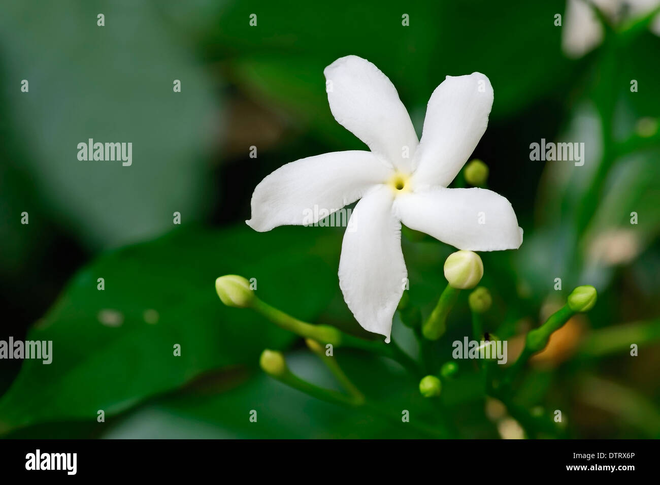
[[[612,22],[648,15],[660,5],[660,0],[591,0]],[[660,15],[651,22],[651,32],[660,36]],[[593,8],[584,0],[568,0],[566,4],[566,26],[562,46],[566,55],[581,57],[598,46],[603,40],[603,27]]]

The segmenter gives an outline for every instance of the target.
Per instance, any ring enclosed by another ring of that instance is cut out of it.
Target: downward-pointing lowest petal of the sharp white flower
[[[362,328],[385,335],[385,342],[408,276],[392,200],[384,185],[362,197],[350,216],[339,261],[339,286],[348,308]]]

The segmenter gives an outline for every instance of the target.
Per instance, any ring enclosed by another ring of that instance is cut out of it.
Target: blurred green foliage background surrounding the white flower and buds
[[[334,385],[299,339],[251,311],[222,306],[213,291],[216,276],[255,277],[266,302],[364,335],[337,284],[341,230],[259,234],[242,223],[251,191],[275,168],[364,148],[333,119],[323,79],[326,65],[355,54],[393,81],[418,133],[446,75],[479,71],[494,86],[475,156],[490,168],[489,188],[512,201],[525,241],[519,251],[482,255],[482,284],[494,299],[486,331],[513,345],[574,286],[599,290],[588,318],[564,335],[574,350],[537,362],[513,404],[531,413],[531,424],[564,410],[570,437],[657,436],[660,353],[657,322],[649,320],[660,314],[660,143],[637,129],[643,117],[660,117],[660,39],[643,31],[569,61],[553,22],[564,9],[562,0],[3,3],[0,303],[8,317],[0,339],[51,339],[54,358],[49,366],[0,361],[0,431],[434,436],[418,428],[426,422],[461,437],[500,436],[503,417],[484,398],[474,362],[459,362],[457,376],[443,379],[440,411],[397,364],[342,350],[345,372],[381,404],[347,410],[259,372],[259,352],[279,348],[296,374]],[[401,26],[404,13],[409,27]],[[172,93],[174,79],[181,93]],[[632,79],[639,92],[630,91]],[[133,142],[133,166],[79,162],[76,145],[88,138]],[[530,162],[529,144],[541,138],[583,141],[585,165]],[[259,147],[256,160],[251,145]],[[24,210],[28,226],[20,224]],[[184,227],[168,234],[174,211]],[[411,301],[428,315],[451,248],[404,234]],[[465,298],[449,315],[447,342],[470,325]],[[145,321],[150,309],[156,323]],[[108,315],[110,322],[121,315],[121,325],[102,325]],[[398,317],[393,339],[418,354]],[[640,343],[639,357],[628,357],[630,342]],[[174,343],[181,357],[172,356]],[[435,366],[450,359],[448,344],[432,356]],[[106,424],[96,422],[99,409]],[[401,423],[402,409],[414,416],[412,426]]]

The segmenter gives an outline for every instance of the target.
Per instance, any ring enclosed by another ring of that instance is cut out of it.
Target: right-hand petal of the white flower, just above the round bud
[[[511,203],[486,189],[434,189],[402,194],[394,203],[401,222],[458,249],[517,249],[523,230]]]

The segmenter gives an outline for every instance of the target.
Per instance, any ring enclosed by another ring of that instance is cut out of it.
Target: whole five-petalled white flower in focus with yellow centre
[[[397,90],[375,65],[348,55],[324,74],[335,119],[371,151],[326,153],[282,166],[257,185],[246,222],[260,232],[300,225],[309,222],[304,219],[315,205],[333,212],[361,199],[344,235],[339,286],[358,323],[389,342],[407,282],[401,222],[459,249],[495,251],[522,243],[504,197],[446,188],[486,131],[493,90],[480,73],[447,76],[428,102],[418,142]]]

